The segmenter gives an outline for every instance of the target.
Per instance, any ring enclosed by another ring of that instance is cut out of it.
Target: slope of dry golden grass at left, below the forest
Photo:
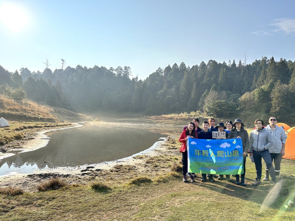
[[[47,105],[40,105],[31,100],[15,101],[6,96],[0,95],[0,117],[8,121],[89,121],[90,118],[83,114],[63,108],[53,108]]]

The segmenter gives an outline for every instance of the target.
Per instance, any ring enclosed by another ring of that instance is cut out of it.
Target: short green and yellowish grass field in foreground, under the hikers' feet
[[[289,200],[295,201],[293,160],[283,159],[276,185],[271,181],[250,185],[255,178],[250,159],[246,187],[217,179],[202,183],[200,174],[195,183],[183,183],[180,144],[175,138],[164,144],[167,151],[158,156],[136,157],[145,159],[145,171],[116,165],[97,173],[86,186],[1,194],[0,220],[294,220],[295,208],[285,207]],[[159,167],[167,172],[153,172]],[[174,171],[169,172],[171,168]]]

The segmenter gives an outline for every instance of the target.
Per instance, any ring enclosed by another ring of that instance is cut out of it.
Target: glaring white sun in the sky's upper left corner
[[[27,26],[29,18],[21,6],[6,2],[0,4],[0,22],[11,31],[18,32]]]

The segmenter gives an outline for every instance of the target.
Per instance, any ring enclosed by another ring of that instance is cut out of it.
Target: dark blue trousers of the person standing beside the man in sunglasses
[[[261,179],[261,170],[262,170],[262,163],[261,158],[265,161],[265,164],[268,168],[269,175],[271,176],[271,179],[276,179],[275,169],[273,168],[273,164],[271,162],[271,155],[269,154],[268,150],[264,151],[255,151],[253,150],[253,159],[255,163],[256,168],[256,180]]]

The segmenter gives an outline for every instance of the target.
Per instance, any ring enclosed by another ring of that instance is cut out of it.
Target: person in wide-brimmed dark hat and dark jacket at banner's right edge
[[[247,152],[249,149],[249,136],[248,132],[244,129],[245,125],[241,119],[235,119],[235,122],[232,123],[232,130],[228,135],[227,139],[242,139],[243,144],[243,166],[244,173],[241,174],[241,185],[246,186],[245,184],[245,173],[246,173],[246,157],[248,156]],[[240,185],[240,175],[236,174],[236,182],[235,184]]]

